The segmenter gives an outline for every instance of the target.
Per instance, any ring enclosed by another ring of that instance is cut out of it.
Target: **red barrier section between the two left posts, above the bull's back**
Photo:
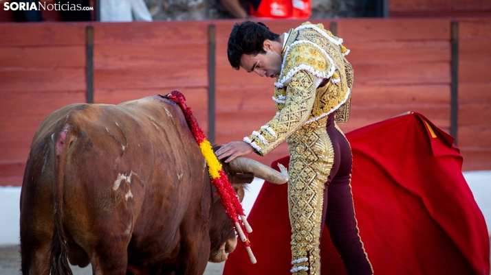
[[[208,129],[208,23],[94,24],[94,101],[118,104],[178,90]]]

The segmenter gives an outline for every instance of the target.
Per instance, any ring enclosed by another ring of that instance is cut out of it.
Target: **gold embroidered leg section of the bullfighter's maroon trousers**
[[[303,125],[287,139],[290,151],[288,206],[292,226],[293,274],[320,275],[320,228],[324,185],[334,164],[325,119]],[[308,261],[299,259],[308,258]],[[308,267],[308,272],[305,267]]]

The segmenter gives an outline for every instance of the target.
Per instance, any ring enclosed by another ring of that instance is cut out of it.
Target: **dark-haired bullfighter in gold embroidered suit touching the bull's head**
[[[351,148],[336,122],[349,118],[353,69],[342,39],[305,22],[279,35],[263,23],[236,23],[228,40],[234,69],[276,78],[276,115],[243,141],[217,151],[226,162],[264,156],[283,141],[290,152],[288,205],[293,274],[320,274],[320,236],[327,225],[347,274],[373,274],[358,234],[351,194]]]

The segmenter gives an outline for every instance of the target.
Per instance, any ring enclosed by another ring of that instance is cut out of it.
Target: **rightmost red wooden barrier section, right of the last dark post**
[[[466,169],[491,169],[491,19],[459,25],[459,147]]]

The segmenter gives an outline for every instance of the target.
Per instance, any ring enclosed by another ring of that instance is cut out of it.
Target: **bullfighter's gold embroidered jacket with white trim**
[[[302,125],[327,117],[347,122],[353,85],[349,49],[323,24],[303,23],[291,29],[283,49],[283,63],[274,85],[276,116],[244,141],[261,156],[268,154]],[[330,80],[317,88],[316,80]]]

